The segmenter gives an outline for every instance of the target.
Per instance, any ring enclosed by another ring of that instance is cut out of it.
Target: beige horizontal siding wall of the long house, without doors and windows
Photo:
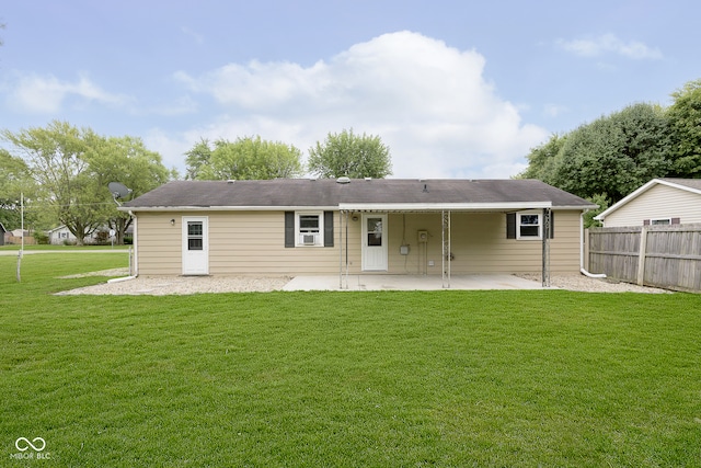
[[[360,214],[334,214],[334,247],[285,248],[283,212],[192,212],[185,216],[209,220],[211,275],[297,275],[361,272]],[[137,213],[136,253],[140,275],[182,273],[182,216],[174,213]],[[340,219],[343,216],[343,220]],[[353,220],[356,218],[356,220]],[[171,219],[174,219],[171,226]],[[390,214],[388,272],[380,274],[440,274],[441,216]],[[542,242],[506,238],[504,213],[451,216],[452,274],[537,273],[541,271]],[[555,237],[550,242],[551,272],[579,271],[579,212],[556,212]],[[429,233],[420,243],[418,230]],[[347,232],[347,236],[346,236]],[[400,246],[410,246],[407,255]],[[433,261],[433,266],[429,262]],[[377,272],[368,274],[378,274]]]

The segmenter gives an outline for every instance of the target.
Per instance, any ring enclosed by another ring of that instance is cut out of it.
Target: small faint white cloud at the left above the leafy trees
[[[111,94],[85,76],[80,76],[76,82],[68,82],[50,75],[16,75],[15,82],[10,88],[8,104],[25,113],[57,113],[69,96],[78,96],[85,101],[113,106],[129,102],[129,98],[122,94]]]

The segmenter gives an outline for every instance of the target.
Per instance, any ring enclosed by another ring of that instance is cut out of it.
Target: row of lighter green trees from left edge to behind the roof
[[[82,244],[84,237],[106,227],[122,244],[131,217],[117,210],[110,182],[123,183],[135,197],[180,178],[140,138],[106,137],[67,122],[15,133],[0,130],[0,138],[12,150],[0,148],[0,222],[8,230],[21,226],[23,195],[25,226],[35,231],[64,225]],[[212,144],[202,139],[185,153],[185,179],[297,178],[306,171],[322,178],[391,174],[389,148],[379,137],[356,135],[353,129],[330,133],[317,142],[309,150],[307,167],[301,156],[291,145],[260,136]]]

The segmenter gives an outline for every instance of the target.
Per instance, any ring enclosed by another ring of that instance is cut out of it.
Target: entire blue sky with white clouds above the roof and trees
[[[691,0],[3,3],[0,128],[138,136],[181,173],[200,138],[306,157],[353,128],[394,178],[508,178],[553,133],[701,78]]]

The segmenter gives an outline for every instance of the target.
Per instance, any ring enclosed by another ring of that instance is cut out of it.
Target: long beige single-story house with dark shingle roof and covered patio
[[[174,181],[119,209],[141,275],[440,275],[578,273],[593,208],[536,180],[341,178]]]

